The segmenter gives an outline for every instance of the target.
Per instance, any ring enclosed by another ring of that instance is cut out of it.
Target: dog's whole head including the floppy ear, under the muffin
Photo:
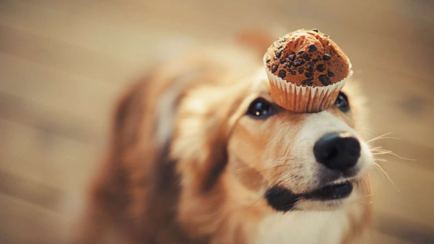
[[[327,110],[295,113],[274,103],[263,73],[182,102],[172,152],[191,207],[181,210],[326,210],[357,197],[372,156],[355,130],[351,81]]]

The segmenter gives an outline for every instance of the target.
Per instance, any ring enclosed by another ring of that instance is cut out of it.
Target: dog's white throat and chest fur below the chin
[[[363,220],[363,208],[351,203],[333,211],[291,211],[267,214],[252,243],[343,243]]]

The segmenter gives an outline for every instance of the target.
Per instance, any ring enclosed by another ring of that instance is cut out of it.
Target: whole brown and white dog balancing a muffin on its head
[[[124,96],[80,243],[354,240],[372,156],[352,81],[329,109],[294,113],[273,102],[260,57],[207,53]]]

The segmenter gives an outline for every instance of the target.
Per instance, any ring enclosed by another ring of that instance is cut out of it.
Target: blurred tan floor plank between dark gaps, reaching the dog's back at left
[[[0,79],[0,100],[8,104],[0,108],[3,116],[21,109],[24,116],[33,117],[30,120],[50,118],[58,120],[59,126],[80,127],[88,139],[107,131],[115,102],[124,90],[122,83],[86,79],[2,53]],[[10,107],[17,109],[5,111]]]

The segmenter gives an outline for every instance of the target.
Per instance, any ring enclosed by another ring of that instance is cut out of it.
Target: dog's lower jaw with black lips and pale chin
[[[354,179],[339,179],[313,191],[295,194],[281,186],[267,190],[265,199],[277,211],[335,210],[343,207],[353,192]]]

